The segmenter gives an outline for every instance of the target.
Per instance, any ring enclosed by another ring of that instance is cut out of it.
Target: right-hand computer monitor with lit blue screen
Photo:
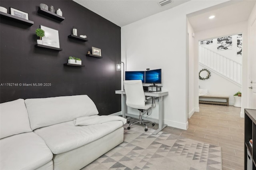
[[[162,83],[162,69],[145,71],[145,83]]]

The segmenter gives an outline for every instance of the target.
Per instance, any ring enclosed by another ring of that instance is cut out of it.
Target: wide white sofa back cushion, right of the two
[[[26,99],[25,104],[33,130],[99,113],[87,95]]]

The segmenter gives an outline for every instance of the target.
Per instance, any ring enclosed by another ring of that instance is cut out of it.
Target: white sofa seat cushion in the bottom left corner
[[[2,138],[0,146],[1,170],[36,169],[53,157],[44,140],[34,132]]]

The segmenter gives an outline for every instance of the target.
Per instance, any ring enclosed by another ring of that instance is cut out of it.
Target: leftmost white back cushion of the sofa
[[[24,99],[1,103],[0,116],[0,138],[32,131]]]

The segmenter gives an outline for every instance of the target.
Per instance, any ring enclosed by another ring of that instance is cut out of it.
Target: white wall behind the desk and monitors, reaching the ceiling
[[[168,126],[188,128],[186,14],[226,1],[191,0],[121,28],[121,59],[127,70],[162,68],[162,89],[169,91],[163,109]]]

